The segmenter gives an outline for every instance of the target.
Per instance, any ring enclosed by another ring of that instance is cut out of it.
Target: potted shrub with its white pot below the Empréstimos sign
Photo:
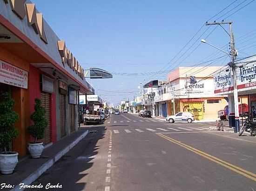
[[[10,93],[1,95],[0,101],[0,172],[11,174],[18,163],[18,153],[11,152],[12,141],[18,136],[18,131],[13,127],[18,120],[18,114],[13,111],[14,100]]]

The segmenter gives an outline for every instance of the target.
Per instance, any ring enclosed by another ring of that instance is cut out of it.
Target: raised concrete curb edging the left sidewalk
[[[44,163],[42,166],[40,166],[35,172],[30,174],[27,178],[22,180],[20,183],[24,183],[24,185],[30,185],[32,182],[34,182],[37,178],[39,178],[42,173],[46,172],[51,166],[54,165],[55,162],[57,162],[61,157],[66,154],[68,151],[70,151],[80,140],[82,140],[86,135],[88,134],[88,130],[81,134],[76,140],[74,140],[72,143],[70,143],[66,148],[61,150],[59,153],[57,153],[54,158],[49,159],[46,163]],[[19,183],[19,185],[20,185]],[[11,191],[23,191],[23,189],[20,189],[20,186],[16,185]]]

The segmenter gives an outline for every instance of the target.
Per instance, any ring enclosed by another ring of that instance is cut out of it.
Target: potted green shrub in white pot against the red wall
[[[41,153],[44,150],[42,142],[37,140],[44,138],[44,131],[48,125],[48,121],[45,118],[45,108],[41,106],[41,100],[35,99],[34,113],[30,115],[30,119],[34,121],[34,125],[28,127],[29,134],[34,137],[34,142],[28,144],[28,150],[32,158],[40,158]]]

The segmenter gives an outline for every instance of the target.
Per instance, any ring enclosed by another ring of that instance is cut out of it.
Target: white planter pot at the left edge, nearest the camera
[[[11,174],[18,163],[18,153],[8,152],[10,154],[0,153],[0,172],[2,174]]]

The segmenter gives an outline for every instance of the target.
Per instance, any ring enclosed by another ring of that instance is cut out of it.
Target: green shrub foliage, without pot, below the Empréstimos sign
[[[13,125],[19,116],[13,111],[15,102],[10,93],[5,92],[0,96],[0,148],[7,154],[7,150],[10,150],[11,142],[18,136],[18,131]]]

